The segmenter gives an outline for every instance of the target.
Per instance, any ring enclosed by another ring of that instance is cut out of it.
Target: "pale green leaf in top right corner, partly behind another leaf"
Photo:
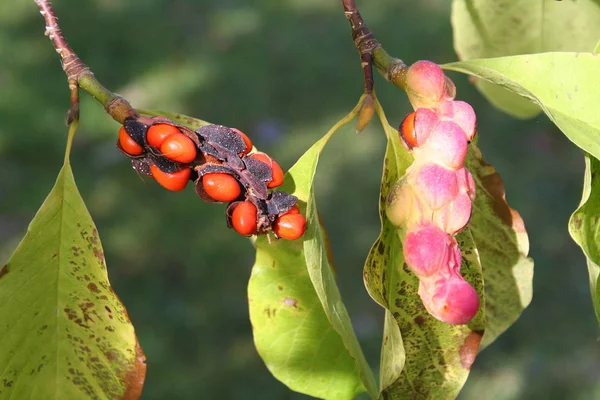
[[[594,0],[454,0],[454,48],[461,60],[592,49],[600,37]],[[498,108],[531,118],[538,107],[484,81],[478,89]]]

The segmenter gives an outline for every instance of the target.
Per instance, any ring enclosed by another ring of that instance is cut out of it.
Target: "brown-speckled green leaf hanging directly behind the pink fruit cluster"
[[[468,325],[443,323],[425,310],[417,294],[418,279],[404,263],[398,229],[385,216],[385,199],[412,159],[379,103],[376,110],[388,137],[379,205],[382,228],[363,276],[369,294],[386,309],[380,366],[382,397],[454,398],[477,354],[484,331],[484,307]],[[461,274],[477,289],[483,305],[481,267],[469,229],[457,240],[463,253]]]

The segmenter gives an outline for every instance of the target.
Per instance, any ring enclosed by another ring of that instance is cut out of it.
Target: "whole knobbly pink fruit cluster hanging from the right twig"
[[[473,176],[464,167],[475,112],[454,100],[454,84],[430,61],[408,69],[406,91],[416,111],[405,118],[400,134],[414,163],[390,192],[387,216],[402,228],[404,259],[419,278],[427,311],[449,324],[466,324],[479,298],[460,275],[454,235],[469,222],[475,197]]]

